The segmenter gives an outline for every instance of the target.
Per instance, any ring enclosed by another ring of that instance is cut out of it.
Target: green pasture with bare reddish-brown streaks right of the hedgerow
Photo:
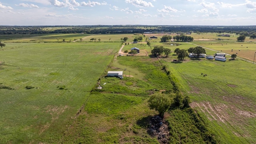
[[[255,143],[254,64],[203,59],[163,63],[178,78],[183,93],[192,98],[191,106],[210,120],[209,126],[218,133],[221,143]]]

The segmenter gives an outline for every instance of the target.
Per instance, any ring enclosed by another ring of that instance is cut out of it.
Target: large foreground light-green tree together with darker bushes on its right
[[[150,109],[159,112],[161,118],[164,117],[164,112],[168,109],[174,108],[189,108],[190,98],[188,96],[182,96],[180,92],[174,94],[152,94],[148,100],[148,105]]]

